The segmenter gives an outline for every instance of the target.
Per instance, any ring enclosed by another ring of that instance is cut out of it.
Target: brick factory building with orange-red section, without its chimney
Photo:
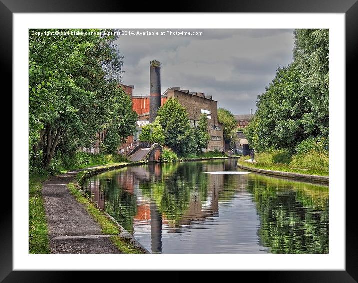
[[[192,127],[198,125],[201,113],[206,114],[208,132],[211,136],[207,149],[222,151],[224,139],[222,125],[217,121],[217,101],[212,100],[211,95],[201,92],[190,92],[180,87],[170,87],[161,95],[161,105],[164,105],[172,97],[178,99],[179,103],[186,108]],[[133,96],[133,109],[138,114],[139,132],[134,136],[134,140],[136,140],[140,133],[140,127],[149,123],[149,95]]]

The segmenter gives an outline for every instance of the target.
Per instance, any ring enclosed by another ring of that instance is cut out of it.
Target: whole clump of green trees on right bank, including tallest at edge
[[[293,151],[313,137],[328,140],[328,30],[297,29],[294,34],[294,61],[277,69],[244,130],[251,147],[260,151]]]

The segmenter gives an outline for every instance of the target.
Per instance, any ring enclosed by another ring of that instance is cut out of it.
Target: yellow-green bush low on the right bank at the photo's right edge
[[[308,170],[329,171],[329,156],[312,150],[305,154],[293,156],[290,166]]]

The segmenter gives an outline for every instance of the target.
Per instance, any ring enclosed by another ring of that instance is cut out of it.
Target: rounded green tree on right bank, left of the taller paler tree
[[[301,119],[307,113],[309,107],[306,105],[297,68],[295,65],[278,68],[266,92],[258,96],[256,122],[245,130],[246,136],[249,141],[253,141],[256,136],[257,142],[250,144],[258,150],[270,147],[294,148],[297,141],[305,137],[306,123]]]

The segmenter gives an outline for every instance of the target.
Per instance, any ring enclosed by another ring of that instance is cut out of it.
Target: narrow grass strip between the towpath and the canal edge
[[[83,193],[76,188],[74,183],[69,183],[67,187],[75,199],[84,205],[89,215],[99,223],[102,228],[102,233],[105,235],[113,235],[110,239],[121,252],[143,253],[143,251],[135,247],[129,239],[118,236],[120,233],[118,226],[85,197]]]

